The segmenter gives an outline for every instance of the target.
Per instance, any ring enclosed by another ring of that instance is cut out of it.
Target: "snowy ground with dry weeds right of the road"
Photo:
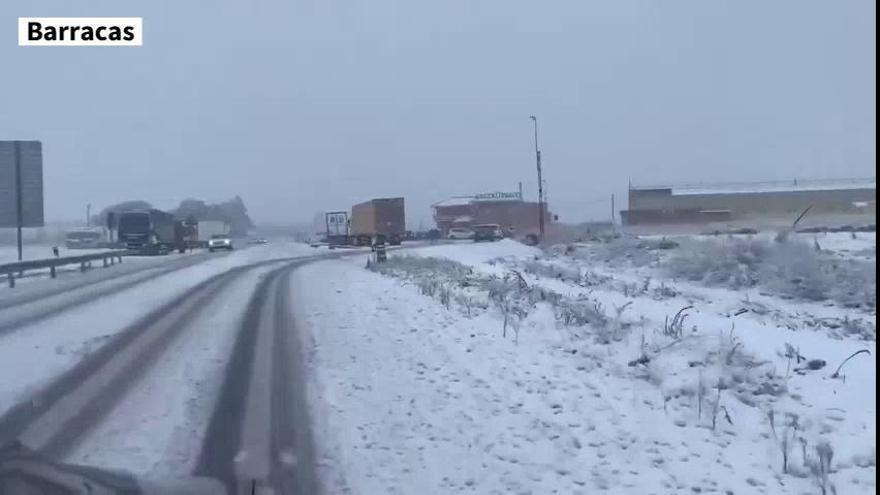
[[[823,256],[873,263],[834,242]],[[299,270],[329,492],[874,493],[873,290],[800,251],[682,281],[677,249],[503,241]]]

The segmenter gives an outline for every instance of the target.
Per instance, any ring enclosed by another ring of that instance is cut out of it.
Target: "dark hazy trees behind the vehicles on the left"
[[[123,201],[110,205],[92,217],[94,225],[107,225],[107,214],[126,211],[149,210],[153,205],[148,201]],[[240,196],[222,203],[207,203],[200,199],[188,198],[180,202],[177,208],[169,210],[178,220],[195,223],[199,220],[221,220],[227,222],[230,233],[235,236],[245,235],[254,228],[254,222],[247,213],[247,207]]]

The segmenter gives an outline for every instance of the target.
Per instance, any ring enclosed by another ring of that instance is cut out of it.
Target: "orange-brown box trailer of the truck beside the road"
[[[403,198],[376,198],[351,207],[351,235],[358,246],[400,244],[405,232]]]

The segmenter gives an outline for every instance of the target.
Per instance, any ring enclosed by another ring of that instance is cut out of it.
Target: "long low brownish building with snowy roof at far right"
[[[629,188],[624,225],[713,223],[810,215],[876,216],[875,179],[794,180]]]

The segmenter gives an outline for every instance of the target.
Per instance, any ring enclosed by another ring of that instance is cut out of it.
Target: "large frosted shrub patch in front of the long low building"
[[[672,277],[730,289],[761,287],[784,297],[876,305],[875,263],[817,252],[794,239],[691,240],[663,263]]]

